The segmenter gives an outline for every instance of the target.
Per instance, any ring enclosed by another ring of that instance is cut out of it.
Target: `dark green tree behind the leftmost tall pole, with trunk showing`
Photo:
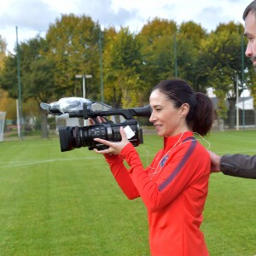
[[[38,102],[38,112],[42,118],[42,137],[48,137],[47,112],[39,108],[40,102],[49,102],[55,96],[54,64],[45,56],[47,43],[43,38],[32,38],[20,44],[20,87],[22,105],[29,99]],[[9,91],[9,96],[18,98],[17,55],[9,55],[1,73],[1,85]],[[26,108],[26,116],[33,109]],[[25,124],[26,125],[26,124]]]

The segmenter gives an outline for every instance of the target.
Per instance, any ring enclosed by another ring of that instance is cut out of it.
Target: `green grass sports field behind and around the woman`
[[[207,141],[218,154],[256,154],[255,138],[212,132]],[[150,162],[161,145],[144,136],[145,166],[146,149]],[[256,254],[255,211],[255,180],[212,174],[201,227],[210,254]],[[0,143],[0,227],[0,255],[149,255],[143,202],[125,198],[102,155],[61,153],[58,138]]]

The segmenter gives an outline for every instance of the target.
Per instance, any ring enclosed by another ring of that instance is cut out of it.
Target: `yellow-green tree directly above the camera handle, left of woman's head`
[[[140,89],[141,45],[128,28],[104,33],[104,87],[105,96],[114,108],[128,108],[143,102]],[[140,98],[141,96],[141,98]]]

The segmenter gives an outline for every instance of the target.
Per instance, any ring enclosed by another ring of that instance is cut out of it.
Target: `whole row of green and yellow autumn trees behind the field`
[[[251,90],[256,103],[255,75],[244,57],[247,39],[243,32],[243,25],[233,21],[207,32],[194,21],[177,25],[160,18],[148,20],[137,33],[129,27],[117,31],[113,26],[102,31],[90,16],[61,15],[49,25],[44,38],[38,35],[21,42],[15,54],[3,54],[6,45],[0,38],[0,99],[6,99],[6,91],[9,97],[18,98],[19,53],[25,115],[41,112],[44,127],[46,113],[39,103],[82,96],[82,79],[76,75],[90,74],[86,98],[103,99],[113,108],[147,104],[151,89],[164,79],[185,79],[195,91],[204,93],[212,87],[218,97],[218,117],[224,119],[229,112],[232,128],[236,86],[239,95],[245,88]],[[229,109],[225,100],[230,102]],[[8,108],[6,101],[1,102],[0,107]]]

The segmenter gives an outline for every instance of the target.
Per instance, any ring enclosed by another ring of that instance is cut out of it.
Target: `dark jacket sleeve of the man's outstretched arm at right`
[[[220,160],[220,171],[230,176],[256,178],[256,154],[225,154]]]

